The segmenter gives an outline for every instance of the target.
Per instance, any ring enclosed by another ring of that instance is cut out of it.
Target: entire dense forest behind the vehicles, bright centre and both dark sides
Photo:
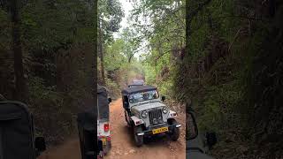
[[[0,95],[27,102],[57,143],[92,103],[94,78],[114,97],[145,79],[192,103],[200,130],[218,134],[214,157],[283,155],[283,2],[129,3],[122,28],[119,0],[0,0]]]

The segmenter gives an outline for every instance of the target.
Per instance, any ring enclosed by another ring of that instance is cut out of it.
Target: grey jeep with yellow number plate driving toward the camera
[[[135,86],[122,90],[126,123],[134,129],[134,141],[141,147],[144,137],[166,133],[172,140],[180,136],[177,113],[167,107],[157,87]]]

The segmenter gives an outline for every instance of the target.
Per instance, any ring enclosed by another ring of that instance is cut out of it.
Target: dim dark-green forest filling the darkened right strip
[[[187,2],[175,92],[218,133],[217,158],[282,156],[282,9],[276,0]]]

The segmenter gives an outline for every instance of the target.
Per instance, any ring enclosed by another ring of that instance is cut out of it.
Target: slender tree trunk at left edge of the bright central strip
[[[100,67],[101,67],[101,78],[102,78],[102,84],[105,86],[105,73],[104,73],[104,61],[103,61],[103,34],[102,34],[102,26],[100,24],[100,20],[98,21],[99,25],[99,58],[100,58]]]

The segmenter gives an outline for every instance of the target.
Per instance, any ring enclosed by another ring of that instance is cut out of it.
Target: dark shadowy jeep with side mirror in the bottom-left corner
[[[22,102],[0,102],[0,158],[35,159],[45,140],[34,136],[33,115]]]

